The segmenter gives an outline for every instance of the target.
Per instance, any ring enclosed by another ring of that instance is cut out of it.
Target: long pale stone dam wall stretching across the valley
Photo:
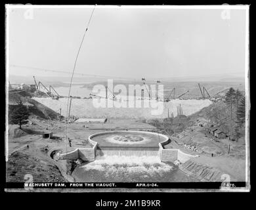
[[[52,110],[58,110],[59,108],[62,108],[63,116],[67,113],[67,98],[59,98],[58,100],[53,100],[52,98],[37,98],[33,97],[33,100],[36,100],[37,102],[40,102],[41,104],[51,108]],[[143,100],[138,100],[136,102],[139,102],[141,104],[141,108],[129,108],[129,104],[127,104],[127,107],[124,108],[121,106],[123,102],[115,102],[115,104],[119,103],[119,108],[113,106],[113,108],[109,108],[106,106],[106,108],[96,108],[93,106],[93,100],[92,99],[79,99],[74,98],[72,99],[72,110],[71,115],[77,116],[79,118],[123,118],[123,119],[140,119],[140,118],[146,118],[146,119],[152,119],[152,118],[160,118],[163,119],[168,116],[168,110],[169,112],[173,112],[174,116],[177,116],[177,106],[181,104],[183,114],[185,116],[189,116],[191,114],[194,114],[202,108],[205,108],[206,106],[209,106],[212,104],[211,100],[196,100],[196,99],[190,99],[190,100],[180,100],[175,99],[171,100],[169,102],[164,102],[164,106],[161,105],[160,102],[150,100],[150,107],[146,107],[142,104]],[[113,100],[106,100],[106,103],[113,103]],[[154,108],[153,108],[154,107]],[[163,112],[161,114],[153,115],[152,111],[157,110],[158,108],[161,109],[163,107]]]

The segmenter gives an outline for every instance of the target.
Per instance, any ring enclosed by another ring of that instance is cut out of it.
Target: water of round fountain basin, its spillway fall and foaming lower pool
[[[77,182],[190,181],[173,163],[163,163],[159,142],[168,137],[145,131],[108,131],[91,135],[97,142],[95,161],[77,166]]]

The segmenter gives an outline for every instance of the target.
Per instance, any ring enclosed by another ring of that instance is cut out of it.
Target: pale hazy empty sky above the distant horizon
[[[93,8],[9,9],[9,74],[67,76]],[[244,75],[245,10],[97,8],[75,73],[108,77]],[[30,12],[31,14],[31,12]]]

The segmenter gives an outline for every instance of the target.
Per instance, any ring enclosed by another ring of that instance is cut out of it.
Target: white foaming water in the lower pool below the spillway
[[[77,182],[191,182],[172,163],[156,156],[102,156],[75,168]]]

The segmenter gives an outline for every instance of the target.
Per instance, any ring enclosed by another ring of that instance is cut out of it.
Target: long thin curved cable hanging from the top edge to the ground
[[[95,5],[95,7],[96,7],[96,5]],[[95,11],[95,7],[93,8],[93,12]],[[85,39],[85,35],[86,35],[87,30],[88,30],[89,24],[90,24],[90,22],[91,22],[91,18],[92,18],[92,16],[93,16],[93,12],[91,13],[89,22],[88,22],[87,27],[86,27],[86,29],[85,29],[85,33],[83,34],[83,39]],[[69,104],[69,102],[70,102],[70,91],[71,91],[71,87],[72,87],[72,81],[73,81],[73,77],[74,77],[75,66],[76,66],[76,63],[77,63],[77,58],[78,58],[78,56],[79,56],[81,47],[82,47],[82,45],[83,45],[83,39],[82,39],[82,41],[81,41],[81,43],[80,43],[79,49],[78,49],[78,51],[77,51],[77,55],[76,55],[76,57],[75,57],[75,63],[74,63],[74,68],[73,68],[73,72],[72,72],[72,77],[71,77],[71,79],[70,79],[70,89],[69,89],[69,91],[68,91],[68,103],[67,103],[67,112],[66,112],[66,121],[67,121],[67,123],[66,123],[66,153],[68,152],[68,110],[69,110],[69,109],[68,109],[68,104]],[[70,106],[71,106],[71,104],[70,104]]]

